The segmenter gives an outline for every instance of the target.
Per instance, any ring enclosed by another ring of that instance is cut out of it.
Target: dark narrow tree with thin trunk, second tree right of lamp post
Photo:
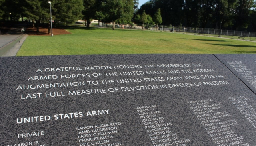
[[[97,3],[96,0],[84,0],[84,10],[82,14],[86,20],[86,27],[89,28],[90,19],[94,18],[96,15]]]

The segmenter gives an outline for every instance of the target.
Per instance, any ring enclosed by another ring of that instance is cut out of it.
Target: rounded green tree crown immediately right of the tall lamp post
[[[57,21],[72,23],[82,18],[83,0],[57,0],[52,9]]]

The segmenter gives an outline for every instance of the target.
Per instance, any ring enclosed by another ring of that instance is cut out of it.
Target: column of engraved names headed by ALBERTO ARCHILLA
[[[222,111],[222,104],[212,102],[213,99],[187,102],[200,124],[207,130],[212,142],[217,146],[249,146],[242,141],[243,136],[238,136],[232,130],[232,127],[239,125],[236,119],[229,120],[232,116]]]

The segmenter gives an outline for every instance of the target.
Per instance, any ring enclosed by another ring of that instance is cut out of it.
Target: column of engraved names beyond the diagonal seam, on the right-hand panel
[[[228,64],[256,88],[256,75],[252,75],[251,69],[247,69],[247,66],[243,64],[242,61],[231,61],[228,62]]]

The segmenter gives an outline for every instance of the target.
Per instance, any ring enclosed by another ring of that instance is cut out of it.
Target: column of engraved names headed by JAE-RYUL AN
[[[135,108],[152,144],[154,146],[186,146],[185,142],[190,140],[179,140],[177,134],[170,129],[172,123],[164,122],[164,117],[161,116],[162,112],[156,108],[156,105]]]

